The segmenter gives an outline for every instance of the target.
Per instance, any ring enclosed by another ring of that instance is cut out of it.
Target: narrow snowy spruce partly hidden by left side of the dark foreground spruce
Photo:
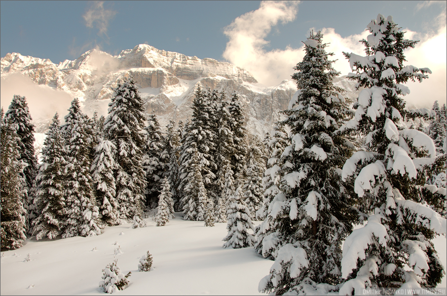
[[[279,186],[281,176],[278,173],[280,168],[284,165],[281,159],[281,155],[284,149],[290,145],[290,139],[286,133],[284,123],[277,122],[273,128],[273,138],[269,143],[271,147],[271,157],[267,161],[267,169],[264,172],[263,184],[264,184],[264,201],[261,208],[256,212],[256,217],[261,224],[256,226],[255,235],[256,243],[254,248],[258,254],[264,258],[274,260],[278,256],[278,249],[282,246],[278,240],[278,229],[274,226],[275,221],[270,216],[268,219],[267,214],[272,211],[270,205],[275,198],[280,200],[283,198]],[[277,197],[278,195],[278,197]],[[273,202],[274,204],[275,202]]]

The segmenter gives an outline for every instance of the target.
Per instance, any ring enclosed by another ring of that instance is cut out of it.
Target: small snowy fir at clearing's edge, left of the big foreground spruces
[[[248,232],[253,230],[253,224],[250,219],[250,211],[244,201],[241,186],[237,187],[234,195],[230,197],[226,217],[228,219],[226,224],[228,234],[223,239],[226,241],[223,247],[239,249],[253,246],[255,237]]]

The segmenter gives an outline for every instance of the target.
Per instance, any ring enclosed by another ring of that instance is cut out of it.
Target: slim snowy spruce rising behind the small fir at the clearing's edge
[[[262,176],[265,172],[264,147],[258,136],[250,135],[248,138],[249,146],[245,161],[242,191],[250,210],[250,218],[252,221],[256,221],[256,211],[261,208],[264,201],[264,190],[262,188]]]

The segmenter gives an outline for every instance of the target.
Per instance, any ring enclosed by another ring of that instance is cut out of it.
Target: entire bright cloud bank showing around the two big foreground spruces
[[[424,5],[431,5],[426,3]],[[297,3],[289,1],[261,2],[259,9],[245,13],[237,17],[224,34],[229,41],[226,45],[223,57],[229,62],[247,69],[254,77],[265,85],[276,85],[284,79],[290,79],[295,72],[293,67],[304,57],[303,47],[298,49],[287,47],[285,50],[264,49],[268,41],[266,36],[272,27],[279,21],[285,23],[293,21],[298,13]],[[365,23],[366,29],[367,22]],[[317,31],[315,28],[312,28]],[[323,42],[327,43],[326,51],[334,53],[331,59],[334,68],[347,75],[351,72],[349,62],[343,52],[365,55],[365,46],[359,42],[370,34],[367,30],[359,28],[360,34],[341,37],[333,28],[320,29],[323,33]],[[309,29],[310,31],[310,29]],[[438,100],[441,104],[447,100],[446,95],[446,12],[443,10],[432,19],[430,28],[421,34],[409,29],[403,30],[405,39],[420,40],[415,48],[405,51],[407,62],[405,65],[414,65],[419,68],[428,67],[432,74],[428,79],[419,82],[408,82],[411,93],[404,97],[408,106],[431,108]]]

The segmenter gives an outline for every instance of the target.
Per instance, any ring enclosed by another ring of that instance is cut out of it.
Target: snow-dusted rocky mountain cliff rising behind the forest
[[[248,71],[230,63],[187,57],[145,44],[124,50],[115,57],[90,50],[76,60],[65,60],[59,65],[49,59],[16,53],[1,59],[2,79],[7,81],[9,75],[17,72],[36,84],[64,91],[72,98],[79,97],[87,114],[97,111],[104,116],[113,96],[113,87],[120,77],[132,75],[140,87],[147,112],[154,112],[162,127],[170,119],[185,121],[191,116],[190,107],[198,85],[225,91],[228,99],[236,91],[245,108],[249,131],[262,136],[271,130],[272,124],[281,116],[280,111],[288,107],[297,90],[291,80],[264,87]],[[347,89],[347,96],[355,96],[353,82],[345,78],[337,78],[335,82]],[[61,118],[64,116],[61,114]],[[50,119],[35,118],[36,131],[45,132]]]

